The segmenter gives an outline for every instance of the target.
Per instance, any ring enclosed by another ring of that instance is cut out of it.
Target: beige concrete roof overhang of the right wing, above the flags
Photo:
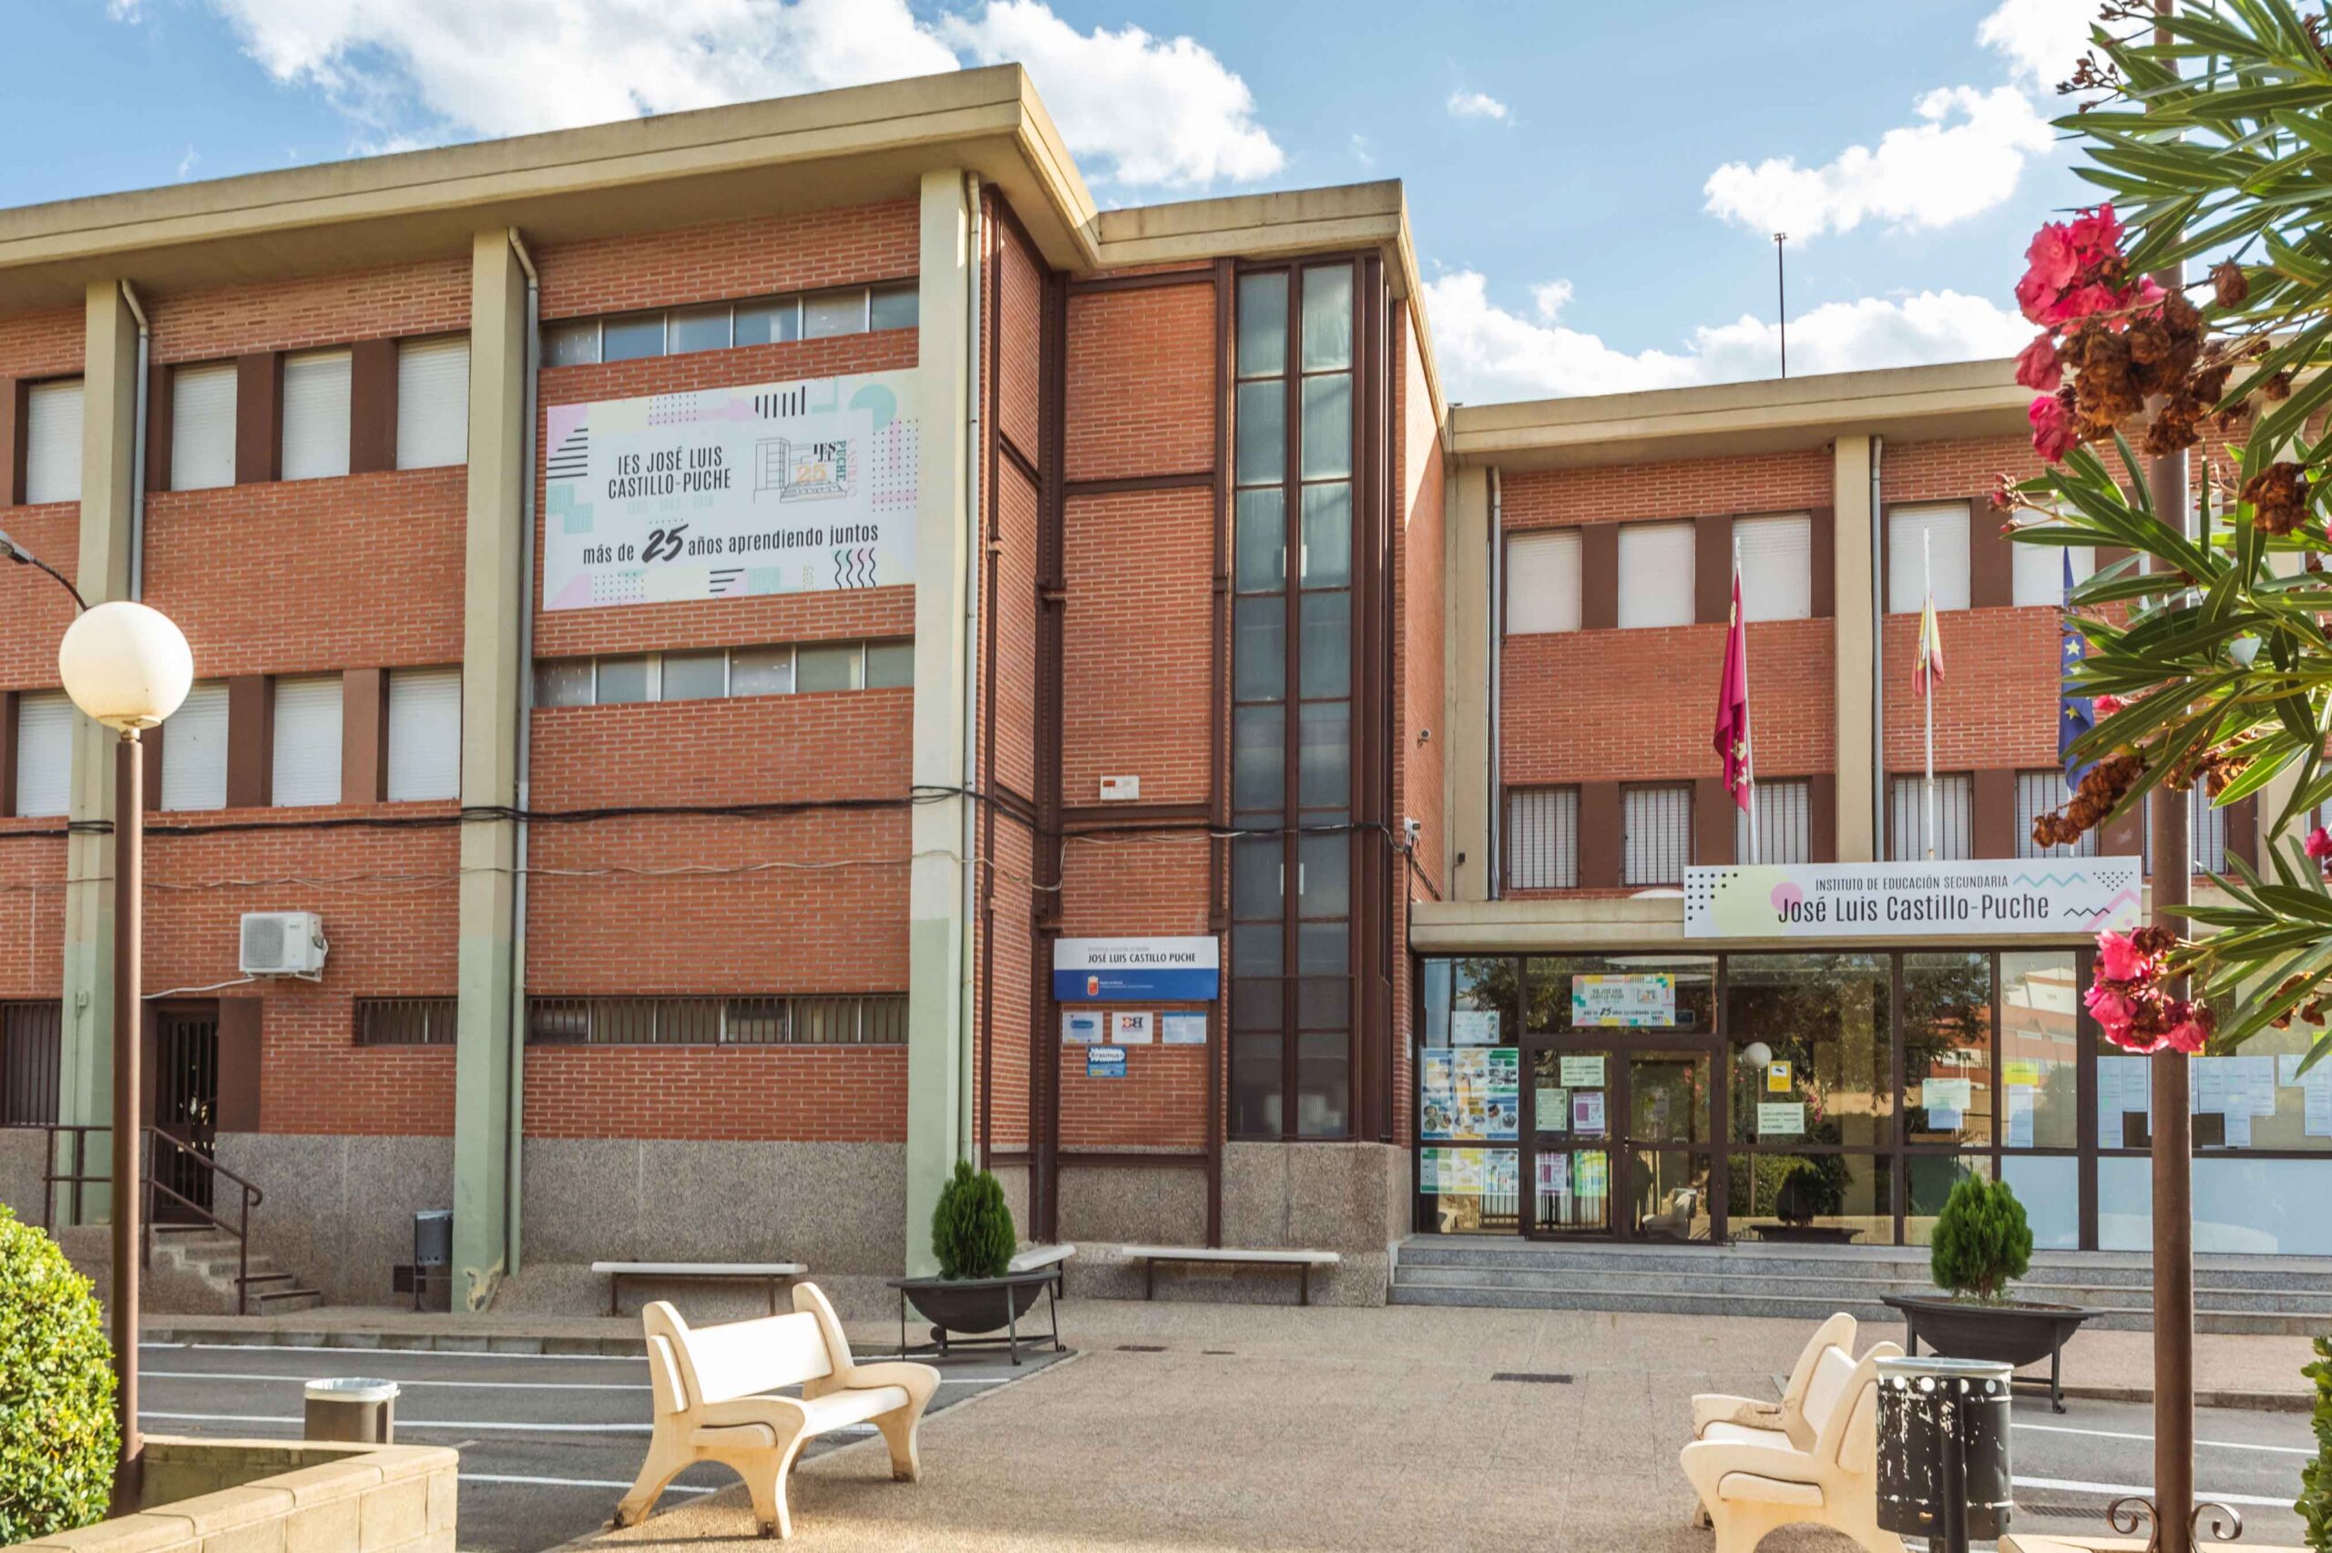
[[[2024,431],[2013,361],[1891,366],[1714,387],[1451,408],[1460,464],[1583,469],[1821,448],[1854,436],[1936,441]]]

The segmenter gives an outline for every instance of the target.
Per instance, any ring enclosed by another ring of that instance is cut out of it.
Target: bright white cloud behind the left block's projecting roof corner
[[[1115,182],[1245,182],[1287,161],[1248,84],[1192,37],[1080,33],[1042,0],[989,0],[977,21],[942,16],[937,30],[982,65],[1026,65],[1068,149],[1108,159]]]

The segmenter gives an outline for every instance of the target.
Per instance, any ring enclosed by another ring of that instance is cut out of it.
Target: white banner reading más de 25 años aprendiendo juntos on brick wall
[[[914,581],[914,373],[548,408],[543,609]]]

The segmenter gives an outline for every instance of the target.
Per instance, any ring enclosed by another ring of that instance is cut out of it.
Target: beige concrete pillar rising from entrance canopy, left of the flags
[[[1444,709],[1448,737],[1444,770],[1448,793],[1448,898],[1488,900],[1497,881],[1490,842],[1490,804],[1497,783],[1490,772],[1490,662],[1497,651],[1497,602],[1490,597],[1490,471],[1451,471],[1448,546],[1441,557],[1444,599]]]

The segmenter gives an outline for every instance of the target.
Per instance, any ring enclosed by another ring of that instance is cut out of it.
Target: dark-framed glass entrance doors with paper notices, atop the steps
[[[1525,1040],[1523,1234],[1721,1241],[1714,1042]]]

